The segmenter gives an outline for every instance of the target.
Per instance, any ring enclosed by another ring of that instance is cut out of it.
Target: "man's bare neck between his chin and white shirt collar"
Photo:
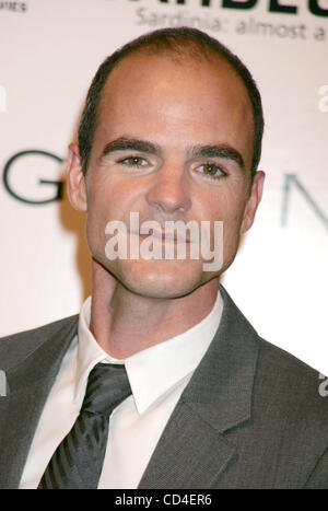
[[[92,262],[90,329],[112,357],[125,359],[186,332],[212,310],[218,279],[175,299],[141,297]]]

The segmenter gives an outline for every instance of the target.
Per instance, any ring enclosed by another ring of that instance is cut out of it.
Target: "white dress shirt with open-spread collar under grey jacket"
[[[108,356],[89,329],[91,297],[82,305],[78,336],[67,351],[36,429],[20,488],[37,488],[57,445],[71,430],[90,371],[98,362],[125,363],[132,395],[112,414],[98,488],[137,488],[166,422],[219,327],[220,292],[200,323],[125,360]],[[108,448],[109,445],[109,448]]]

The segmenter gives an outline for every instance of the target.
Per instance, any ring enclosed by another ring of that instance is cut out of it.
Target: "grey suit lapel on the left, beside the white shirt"
[[[0,398],[0,488],[16,488],[45,400],[77,333],[78,317],[5,371],[9,393]],[[24,342],[24,340],[22,340]]]

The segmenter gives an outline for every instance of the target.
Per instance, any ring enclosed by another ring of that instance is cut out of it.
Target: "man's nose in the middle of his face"
[[[166,216],[188,211],[191,207],[185,169],[165,164],[154,174],[145,198],[151,208]]]

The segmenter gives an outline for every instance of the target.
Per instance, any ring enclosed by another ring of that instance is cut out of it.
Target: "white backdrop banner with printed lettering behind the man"
[[[266,189],[223,283],[262,337],[328,374],[328,0],[0,1],[0,336],[90,293],[67,146],[101,61],[179,25],[226,44],[262,93]]]

